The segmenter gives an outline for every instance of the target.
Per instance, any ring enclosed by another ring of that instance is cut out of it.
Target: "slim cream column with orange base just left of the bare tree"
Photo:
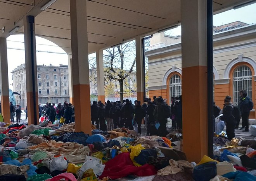
[[[103,50],[96,52],[98,101],[105,102]]]

